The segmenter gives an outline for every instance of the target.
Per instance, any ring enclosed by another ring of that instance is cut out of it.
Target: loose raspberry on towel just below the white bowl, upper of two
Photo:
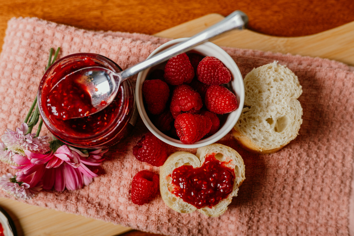
[[[167,159],[166,144],[151,132],[148,132],[133,147],[133,155],[139,161],[160,166]]]

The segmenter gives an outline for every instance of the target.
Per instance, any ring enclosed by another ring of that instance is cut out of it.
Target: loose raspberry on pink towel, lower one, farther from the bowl
[[[153,200],[160,190],[159,181],[158,174],[149,170],[139,171],[132,180],[132,202],[143,205]]]

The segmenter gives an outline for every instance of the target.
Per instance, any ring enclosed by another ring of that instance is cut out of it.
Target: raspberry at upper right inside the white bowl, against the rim
[[[215,57],[204,57],[197,68],[198,80],[204,84],[226,84],[231,81],[228,68]]]

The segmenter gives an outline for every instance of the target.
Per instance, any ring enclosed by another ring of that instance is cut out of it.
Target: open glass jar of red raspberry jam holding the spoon
[[[57,83],[70,72],[89,66],[105,67],[115,72],[122,70],[112,60],[98,54],[78,53],[63,57],[48,68],[40,82],[39,111],[49,131],[64,143],[79,148],[105,148],[124,139],[134,127],[137,117],[135,96],[132,84],[125,80],[115,99],[102,111],[65,119],[63,114],[70,112],[70,105],[79,111],[92,109],[91,99],[74,82],[73,76],[66,78],[64,83]],[[74,106],[78,99],[87,99],[87,104]]]

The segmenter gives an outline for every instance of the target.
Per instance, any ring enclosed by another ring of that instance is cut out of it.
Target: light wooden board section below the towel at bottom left
[[[31,206],[8,198],[0,198],[0,206],[13,219],[18,236],[62,235],[119,235],[131,230],[129,227]]]

